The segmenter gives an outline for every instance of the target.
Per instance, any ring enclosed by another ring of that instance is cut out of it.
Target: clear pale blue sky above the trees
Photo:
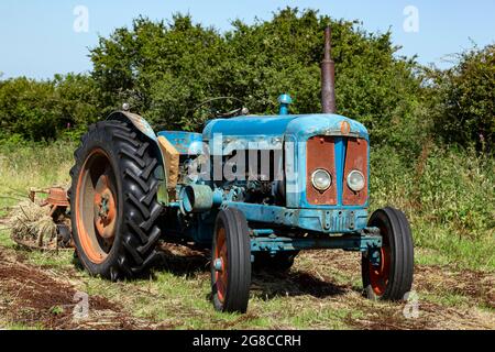
[[[74,9],[88,9],[88,32],[75,32]],[[2,78],[28,76],[51,78],[56,73],[91,69],[88,47],[98,35],[131,23],[139,14],[169,19],[175,12],[189,12],[195,21],[224,31],[234,19],[252,23],[257,16],[270,19],[286,6],[318,9],[320,13],[348,20],[359,19],[369,31],[392,28],[394,43],[403,55],[419,55],[422,64],[449,64],[442,58],[469,48],[471,40],[480,46],[495,42],[493,0],[1,0],[0,72]],[[418,10],[419,31],[406,32],[404,9]]]

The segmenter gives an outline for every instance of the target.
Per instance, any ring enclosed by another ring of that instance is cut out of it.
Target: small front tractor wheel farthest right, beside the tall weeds
[[[411,289],[415,265],[409,222],[402,211],[385,208],[373,213],[369,226],[380,229],[383,248],[375,252],[378,261],[372,261],[374,253],[363,254],[365,294],[373,300],[403,300]]]

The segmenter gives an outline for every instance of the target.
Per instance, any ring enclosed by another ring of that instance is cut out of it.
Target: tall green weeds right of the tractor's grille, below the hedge
[[[474,150],[427,144],[411,163],[391,147],[375,148],[371,185],[373,208],[394,205],[413,221],[453,226],[470,240],[495,235],[495,161]]]

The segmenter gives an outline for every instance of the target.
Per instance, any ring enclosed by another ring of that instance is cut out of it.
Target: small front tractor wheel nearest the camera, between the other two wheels
[[[211,287],[215,308],[245,312],[251,286],[251,241],[245,216],[238,209],[221,210],[211,252]]]

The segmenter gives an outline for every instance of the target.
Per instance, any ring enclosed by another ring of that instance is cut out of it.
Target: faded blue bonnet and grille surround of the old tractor
[[[341,123],[350,124],[350,133],[342,136]],[[310,205],[306,197],[306,144],[307,140],[316,135],[336,136],[336,170],[338,205],[317,206]],[[213,139],[216,136],[216,139]],[[230,152],[223,145],[213,141],[234,141],[237,148],[246,148],[250,142],[264,141],[267,147],[277,148],[272,141],[285,142],[287,174],[295,177],[287,179],[287,207],[288,208],[315,208],[315,209],[362,209],[367,208],[369,202],[362,207],[343,206],[342,189],[345,175],[345,148],[346,138],[360,138],[370,141],[367,130],[361,123],[338,114],[306,114],[306,116],[274,116],[274,117],[240,117],[229,120],[213,120],[205,128],[204,139],[210,142],[210,151],[213,155],[228,155]],[[275,142],[273,142],[275,143]],[[292,143],[292,145],[289,145]],[[278,144],[279,145],[279,144]]]

